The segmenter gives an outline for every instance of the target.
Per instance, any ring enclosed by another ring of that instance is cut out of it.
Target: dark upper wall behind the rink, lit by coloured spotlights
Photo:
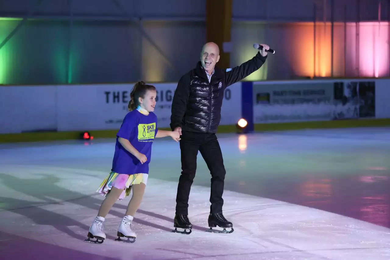
[[[388,0],[234,0],[232,9],[230,66],[252,58],[254,42],[277,50],[246,80],[389,76]],[[6,85],[177,81],[206,42],[206,0],[0,0],[0,17]]]

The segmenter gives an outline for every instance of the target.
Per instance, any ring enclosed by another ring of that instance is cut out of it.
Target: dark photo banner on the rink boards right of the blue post
[[[254,82],[254,123],[375,117],[375,81]]]

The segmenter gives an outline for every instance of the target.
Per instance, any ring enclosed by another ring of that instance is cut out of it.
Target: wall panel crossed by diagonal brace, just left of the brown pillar
[[[142,78],[146,81],[178,81],[195,67],[206,41],[206,24],[202,22],[146,21],[144,28],[173,63],[178,73],[151,45],[142,40]]]

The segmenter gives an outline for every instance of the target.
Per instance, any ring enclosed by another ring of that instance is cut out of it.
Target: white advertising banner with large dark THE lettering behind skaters
[[[154,84],[158,127],[169,127],[177,83]],[[58,86],[58,131],[119,129],[128,110],[132,84]],[[221,124],[241,117],[241,83],[225,90]]]

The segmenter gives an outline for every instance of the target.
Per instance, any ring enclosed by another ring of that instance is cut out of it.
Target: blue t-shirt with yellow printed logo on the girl
[[[149,173],[152,144],[156,134],[156,114],[150,112],[149,115],[144,115],[138,110],[127,113],[117,133],[112,171],[119,174]],[[133,156],[119,143],[119,137],[129,140],[138,152],[145,154],[147,161],[141,164],[137,157]]]

